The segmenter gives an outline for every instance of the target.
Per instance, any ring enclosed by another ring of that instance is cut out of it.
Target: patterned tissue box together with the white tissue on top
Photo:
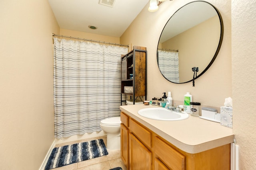
[[[220,107],[220,125],[233,127],[232,98],[226,98],[224,106]]]

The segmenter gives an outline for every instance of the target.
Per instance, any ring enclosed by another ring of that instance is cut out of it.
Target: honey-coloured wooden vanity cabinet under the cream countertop
[[[128,170],[230,170],[230,144],[187,153],[128,114],[120,116],[121,158]]]

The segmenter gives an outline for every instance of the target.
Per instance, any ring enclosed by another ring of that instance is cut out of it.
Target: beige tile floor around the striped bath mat
[[[74,143],[82,143],[87,141],[92,141],[95,139],[103,139],[105,145],[107,137],[96,137],[90,139],[84,139],[79,141],[72,141],[68,143],[56,144],[55,147],[61,147],[65,145],[71,145]],[[98,158],[93,158],[90,160],[85,160],[82,162],[62,166],[60,168],[55,168],[53,170],[109,170],[111,168],[121,167],[123,170],[127,170],[120,158],[120,149],[119,150],[108,150],[108,155],[100,156]]]

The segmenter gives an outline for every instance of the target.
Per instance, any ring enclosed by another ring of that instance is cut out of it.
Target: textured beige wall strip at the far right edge
[[[233,132],[240,170],[256,169],[256,1],[232,0]]]

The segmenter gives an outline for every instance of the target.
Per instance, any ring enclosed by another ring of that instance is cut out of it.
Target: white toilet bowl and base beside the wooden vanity
[[[107,133],[107,149],[120,149],[120,117],[111,117],[100,121],[101,129]]]

